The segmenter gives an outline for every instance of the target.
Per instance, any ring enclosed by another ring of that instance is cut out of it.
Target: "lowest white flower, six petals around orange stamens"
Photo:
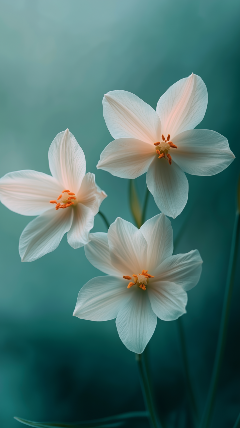
[[[176,256],[172,252],[171,222],[164,214],[139,230],[117,218],[108,233],[91,233],[86,257],[108,275],[82,287],[73,315],[92,321],[116,318],[124,345],[142,353],[157,317],[171,321],[184,314],[186,291],[200,278],[202,259],[197,250]]]

